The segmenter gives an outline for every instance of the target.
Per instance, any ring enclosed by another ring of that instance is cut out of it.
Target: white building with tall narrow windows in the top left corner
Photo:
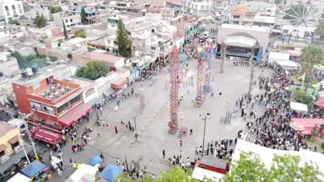
[[[9,22],[9,20],[20,18],[22,15],[25,15],[24,9],[22,8],[22,1],[0,1],[0,20]]]

